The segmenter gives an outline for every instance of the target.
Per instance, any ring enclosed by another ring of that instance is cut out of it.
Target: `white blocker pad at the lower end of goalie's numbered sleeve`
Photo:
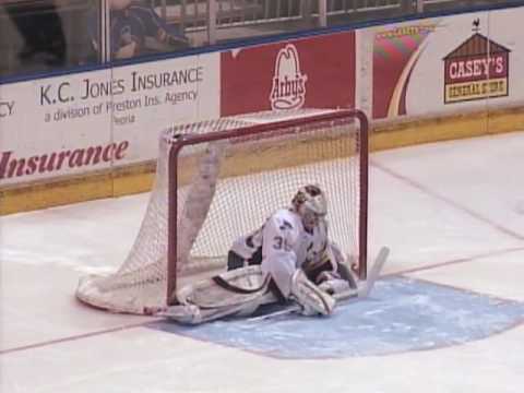
[[[335,308],[335,299],[308,279],[303,271],[297,270],[291,278],[291,296],[302,307],[305,315],[329,315]]]

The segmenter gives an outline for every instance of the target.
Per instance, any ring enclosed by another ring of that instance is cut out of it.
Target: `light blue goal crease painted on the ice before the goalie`
[[[486,338],[524,322],[524,303],[427,282],[393,277],[370,298],[340,305],[329,318],[235,319],[199,326],[155,322],[153,329],[290,358],[397,354]]]

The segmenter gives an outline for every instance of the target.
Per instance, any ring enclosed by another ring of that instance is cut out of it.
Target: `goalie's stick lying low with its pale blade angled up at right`
[[[390,249],[388,247],[382,247],[374,260],[371,271],[368,274],[368,278],[360,286],[357,286],[356,289],[349,289],[349,290],[333,295],[335,300],[337,302],[338,301],[348,302],[350,300],[361,300],[367,298],[371,293],[371,290],[373,289],[374,283],[380,277],[380,272],[382,271],[382,267],[384,266],[384,263],[389,254],[390,254]],[[295,303],[289,307],[286,307],[284,310],[278,310],[264,315],[249,318],[248,321],[250,322],[264,321],[264,320],[274,319],[277,317],[288,315],[290,313],[295,313],[300,310],[301,310],[301,306],[298,303]]]

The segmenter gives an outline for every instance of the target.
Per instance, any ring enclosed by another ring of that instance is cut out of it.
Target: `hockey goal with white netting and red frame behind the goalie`
[[[368,121],[359,110],[310,109],[165,130],[155,184],[128,258],[114,274],[81,277],[76,296],[114,312],[176,303],[177,288],[225,271],[233,241],[288,206],[307,183],[324,190],[330,238],[364,279]]]

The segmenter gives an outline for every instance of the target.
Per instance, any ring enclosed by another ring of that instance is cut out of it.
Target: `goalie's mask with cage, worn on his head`
[[[327,201],[318,186],[302,187],[295,194],[293,207],[301,216],[306,229],[315,227],[327,214]]]

